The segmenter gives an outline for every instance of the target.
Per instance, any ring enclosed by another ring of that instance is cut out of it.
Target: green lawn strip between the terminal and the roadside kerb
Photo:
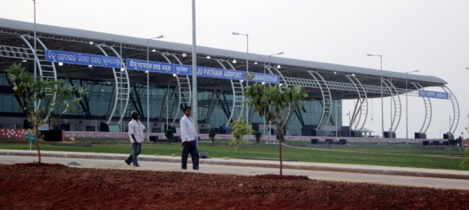
[[[25,142],[25,141],[22,141]],[[95,141],[93,141],[95,142]],[[246,144],[242,151],[216,141],[212,146],[200,143],[201,152],[209,153],[211,158],[279,158],[278,144]],[[29,144],[0,144],[1,149],[29,150]],[[32,150],[35,145],[32,144]],[[128,143],[92,144],[92,146],[52,146],[41,143],[41,151],[69,151],[87,153],[130,153]],[[181,155],[181,144],[146,143],[142,146],[144,155]],[[299,162],[324,162],[360,165],[383,165],[395,167],[418,167],[430,169],[461,169],[462,151],[434,151],[426,149],[403,148],[290,148],[282,147],[283,159]],[[462,170],[469,170],[467,168]]]

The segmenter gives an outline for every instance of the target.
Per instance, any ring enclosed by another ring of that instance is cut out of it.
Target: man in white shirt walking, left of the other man
[[[141,142],[144,141],[145,126],[141,124],[139,120],[139,113],[137,113],[137,111],[132,111],[130,115],[132,116],[132,120],[130,120],[129,123],[129,137],[130,144],[132,144],[132,154],[130,154],[129,158],[125,160],[125,163],[130,165],[132,162],[134,167],[139,167],[140,165],[137,161],[137,157],[141,152]]]

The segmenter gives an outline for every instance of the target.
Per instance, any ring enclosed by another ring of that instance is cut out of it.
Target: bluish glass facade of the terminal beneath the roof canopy
[[[89,94],[85,100],[84,106],[78,106],[76,113],[66,113],[66,116],[62,117],[62,121],[64,119],[81,119],[81,120],[98,120],[98,121],[105,121],[107,116],[109,116],[109,112],[112,110],[113,102],[114,102],[114,83],[109,81],[102,81],[102,80],[66,80],[66,83],[76,86],[85,87]],[[11,92],[10,83],[6,78],[6,73],[0,74],[0,85],[1,85],[1,94],[0,100],[3,106],[0,106],[0,113],[2,116],[22,116],[21,108],[18,104],[18,100]],[[179,102],[177,100],[177,91],[173,91],[172,88],[175,87],[150,87],[150,121],[151,123],[162,123],[163,125],[166,123],[166,118],[168,113],[168,121],[171,125],[173,119],[176,118],[176,122],[183,115],[183,105],[181,107],[177,107]],[[116,113],[114,114],[113,121],[117,121],[116,116],[120,116],[120,112],[125,112],[125,120],[130,120],[130,113],[131,111],[137,110],[141,112],[142,121],[146,122],[146,116],[148,114],[147,111],[147,98],[146,98],[146,85],[132,83],[131,84],[132,92],[130,94],[130,101],[127,105],[127,109],[123,110],[125,104],[116,104]],[[166,100],[166,93],[172,92],[174,95],[168,96],[168,101]],[[207,126],[207,130],[209,128],[218,129],[223,123],[228,122],[228,118],[230,117],[230,113],[232,111],[232,99],[233,96],[231,92],[216,92],[216,90],[199,90],[197,93],[197,97],[199,99],[198,102],[198,119],[200,124],[204,124]],[[165,109],[165,103],[167,103],[168,109]],[[306,113],[301,113],[300,118],[298,118],[297,114],[292,117],[292,120],[288,124],[286,134],[288,135],[302,135],[302,127],[310,126],[315,127],[317,125],[318,120],[321,118],[322,113],[322,101],[317,100],[310,100],[304,102],[304,106],[306,109]],[[341,101],[333,101],[333,107],[340,104]],[[85,107],[85,109],[83,109]],[[177,109],[179,110],[178,116],[176,115]],[[87,111],[86,111],[87,110]],[[232,120],[236,120],[238,116],[241,114],[241,117],[245,117],[245,112],[239,113],[239,109],[235,109],[235,115],[233,116]],[[337,109],[337,120],[339,121],[338,125],[342,125],[342,111],[341,109]],[[193,113],[194,114],[194,113]],[[23,116],[24,118],[24,116]],[[264,120],[260,118],[256,113],[252,115],[250,122],[253,124],[253,128],[255,130],[260,130],[263,127]],[[335,109],[332,108],[331,118],[330,121],[326,125],[335,125]],[[111,124],[111,123],[110,123]],[[266,122],[266,126],[268,122]],[[227,124],[228,126],[228,124]],[[83,128],[82,128],[83,129]],[[161,126],[158,127],[157,130],[153,130],[152,132],[162,132],[164,128]],[[272,130],[274,130],[272,125]],[[201,131],[201,133],[203,133]]]

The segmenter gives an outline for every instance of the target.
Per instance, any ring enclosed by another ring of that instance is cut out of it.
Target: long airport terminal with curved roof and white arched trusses
[[[195,70],[192,45],[160,41],[157,37],[135,38],[50,25],[35,27],[31,22],[0,18],[0,124],[4,128],[27,126],[20,98],[13,94],[6,74],[14,62],[21,62],[31,71],[36,62],[37,73],[44,78],[62,78],[89,91],[76,113],[58,121],[58,127],[71,131],[125,131],[130,112],[137,111],[143,123],[149,122],[150,132],[162,133],[167,127],[179,127],[183,108],[192,106],[195,94],[198,111],[192,114],[197,115],[201,134],[246,116],[254,130],[266,132],[268,122],[253,113],[252,107],[246,111],[243,90],[249,83],[304,87],[309,94],[304,102],[307,112],[297,109],[286,129],[290,136],[335,136],[339,127],[340,137],[360,137],[366,132],[365,122],[370,120],[370,99],[382,96],[390,97],[393,103],[391,125],[384,127],[385,136],[395,137],[402,121],[401,97],[405,94],[421,97],[422,109],[426,110],[426,116],[420,119],[421,130],[412,132],[424,137],[431,123],[434,98],[451,100],[454,120],[450,133],[458,124],[456,96],[447,82],[435,76],[202,46],[197,46],[196,55]],[[193,71],[197,72],[197,91],[193,90]],[[246,73],[253,78],[246,80]],[[426,87],[441,87],[442,92],[428,91]],[[351,127],[342,126],[342,99],[356,102]]]

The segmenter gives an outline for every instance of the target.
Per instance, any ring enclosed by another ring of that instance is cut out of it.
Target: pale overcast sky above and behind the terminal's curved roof
[[[192,43],[190,0],[36,0],[36,22],[110,34]],[[34,22],[31,0],[1,0],[0,18]],[[200,0],[196,1],[197,45],[379,69],[414,71],[446,80],[458,99],[460,119],[455,136],[468,127],[469,1],[467,0]],[[428,90],[442,91],[441,88]],[[405,138],[405,97],[398,137]],[[371,103],[371,102],[370,102]],[[391,124],[384,99],[384,127]],[[449,129],[449,100],[433,99],[428,139]],[[423,100],[409,97],[409,137],[420,130]],[[351,101],[344,101],[348,125]],[[373,100],[373,121],[365,127],[381,132],[380,99]],[[370,116],[371,117],[371,116]],[[370,119],[369,117],[369,119]],[[452,120],[452,119],[451,119]],[[464,136],[468,137],[467,132]]]

